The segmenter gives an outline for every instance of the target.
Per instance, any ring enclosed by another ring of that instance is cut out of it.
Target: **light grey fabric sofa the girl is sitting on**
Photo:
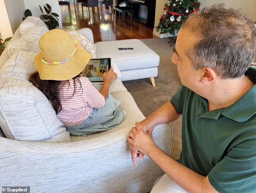
[[[138,166],[132,163],[126,137],[145,117],[120,80],[110,92],[121,101],[125,119],[89,136],[70,136],[46,97],[28,82],[45,27],[29,17],[0,57],[0,186],[29,186],[31,193],[149,192],[164,172],[147,156]],[[169,154],[171,127],[156,126],[153,137]]]

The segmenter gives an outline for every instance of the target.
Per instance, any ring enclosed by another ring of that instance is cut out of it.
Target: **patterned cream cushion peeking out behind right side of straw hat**
[[[92,55],[92,58],[96,58],[96,45],[88,37],[78,31],[70,31],[67,29],[65,29],[65,31],[71,36],[76,36],[80,41],[81,46]]]

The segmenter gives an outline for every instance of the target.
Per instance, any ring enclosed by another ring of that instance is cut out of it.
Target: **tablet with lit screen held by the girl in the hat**
[[[82,71],[83,76],[91,82],[103,82],[103,73],[109,71],[110,65],[110,58],[90,59]]]

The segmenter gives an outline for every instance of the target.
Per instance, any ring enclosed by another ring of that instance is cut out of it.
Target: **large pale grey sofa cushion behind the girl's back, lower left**
[[[20,78],[0,79],[0,127],[6,138],[20,141],[69,142],[69,132],[44,94]]]

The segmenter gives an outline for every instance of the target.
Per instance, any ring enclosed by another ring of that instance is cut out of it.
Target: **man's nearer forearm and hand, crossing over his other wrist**
[[[149,156],[172,180],[188,192],[217,192],[210,184],[207,176],[197,174],[193,170],[176,162],[159,149],[153,141],[152,130],[149,130],[147,133],[143,130],[143,127],[136,122],[136,128],[132,128],[132,136],[128,136],[127,140],[136,149]]]

